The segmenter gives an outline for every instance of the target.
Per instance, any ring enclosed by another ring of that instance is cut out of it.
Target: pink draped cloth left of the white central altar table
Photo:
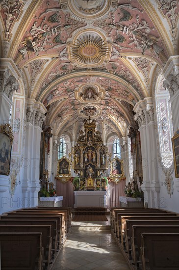
[[[74,208],[74,185],[72,182],[61,183],[56,181],[56,195],[63,196],[62,206]]]

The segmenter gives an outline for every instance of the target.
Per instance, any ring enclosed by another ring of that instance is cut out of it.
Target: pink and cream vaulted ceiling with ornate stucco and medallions
[[[55,135],[77,134],[90,116],[104,139],[125,136],[132,108],[177,54],[177,0],[0,0],[0,14],[1,57]]]

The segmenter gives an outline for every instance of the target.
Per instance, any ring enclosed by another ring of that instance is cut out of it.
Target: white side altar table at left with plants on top
[[[40,207],[61,207],[63,196],[40,197]]]

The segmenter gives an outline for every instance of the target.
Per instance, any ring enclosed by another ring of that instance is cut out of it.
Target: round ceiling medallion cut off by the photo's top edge
[[[71,11],[78,17],[88,20],[102,16],[109,10],[110,4],[111,0],[68,0]]]

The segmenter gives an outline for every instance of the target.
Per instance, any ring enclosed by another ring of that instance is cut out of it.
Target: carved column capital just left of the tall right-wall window
[[[150,122],[154,121],[154,108],[152,98],[145,98],[139,100],[133,108],[135,112],[134,119],[138,122],[139,128],[147,126]]]

